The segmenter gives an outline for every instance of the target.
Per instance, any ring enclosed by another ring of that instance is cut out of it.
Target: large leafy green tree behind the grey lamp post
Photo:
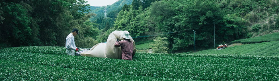
[[[163,1],[162,1],[163,2]],[[176,15],[172,17],[171,23],[166,22],[172,31],[185,30],[184,32],[177,32],[177,34],[170,34],[170,40],[172,44],[171,50],[177,51],[186,47],[192,47],[194,45],[194,34],[192,30],[196,30],[196,46],[197,47],[209,47],[210,43],[213,43],[213,24],[209,23],[218,23],[222,11],[218,7],[218,2],[210,0],[195,0],[195,1],[184,1],[184,2],[175,2],[170,1],[171,4],[181,4],[186,3],[185,5],[174,6],[178,7]],[[179,8],[180,7],[180,8]],[[167,19],[169,20],[169,19]],[[188,30],[189,29],[189,30]],[[207,41],[207,42],[203,42]]]

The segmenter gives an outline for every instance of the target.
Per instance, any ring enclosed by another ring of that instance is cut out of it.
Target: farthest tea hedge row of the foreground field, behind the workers
[[[50,50],[53,49],[53,50]],[[59,54],[66,55],[64,47],[49,46],[30,46],[30,47],[13,47],[0,50],[0,52],[32,52],[42,54]],[[239,54],[165,54],[165,53],[147,53],[136,52],[136,54],[146,55],[167,55],[178,57],[212,57],[212,58],[241,58],[241,59],[257,59],[257,60],[279,60],[277,56],[255,56],[255,55],[239,55]]]

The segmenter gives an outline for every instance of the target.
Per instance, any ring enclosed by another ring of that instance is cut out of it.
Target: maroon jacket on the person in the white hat
[[[123,60],[132,60],[133,55],[133,41],[129,42],[128,40],[122,40],[115,43],[116,47],[121,46],[121,53]]]

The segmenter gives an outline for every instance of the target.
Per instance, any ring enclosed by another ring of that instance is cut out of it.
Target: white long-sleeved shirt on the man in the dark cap
[[[75,46],[75,38],[72,33],[70,33],[66,38],[66,49],[75,50],[77,47]]]

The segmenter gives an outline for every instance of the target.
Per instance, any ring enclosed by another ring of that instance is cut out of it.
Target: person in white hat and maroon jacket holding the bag
[[[115,46],[121,47],[121,54],[123,60],[132,60],[133,55],[133,41],[131,41],[130,33],[128,31],[123,31],[121,37],[124,39],[122,41],[116,41]]]

